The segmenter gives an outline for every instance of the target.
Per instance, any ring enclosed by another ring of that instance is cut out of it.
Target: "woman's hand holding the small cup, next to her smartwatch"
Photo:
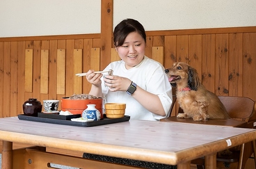
[[[131,84],[131,80],[126,77],[118,76],[104,76],[105,86],[109,87],[112,92],[116,91],[126,91]]]

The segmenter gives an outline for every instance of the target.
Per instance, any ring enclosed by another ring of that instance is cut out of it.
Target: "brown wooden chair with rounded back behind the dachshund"
[[[224,104],[229,113],[230,118],[234,120],[241,120],[247,122],[245,128],[254,128],[256,122],[255,101],[248,97],[232,97],[219,96],[221,102]],[[252,154],[256,154],[255,141],[244,143],[237,152],[231,155],[221,156],[217,155],[217,168],[244,168],[246,161]],[[205,160],[203,158],[195,159],[191,163],[196,164],[197,168],[204,168]],[[255,159],[256,166],[256,159]]]

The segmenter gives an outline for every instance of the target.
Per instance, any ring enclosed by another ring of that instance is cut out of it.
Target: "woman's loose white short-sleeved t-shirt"
[[[170,106],[172,104],[172,88],[168,81],[168,77],[164,72],[163,65],[157,61],[144,56],[143,61],[127,70],[125,62],[115,61],[110,63],[104,70],[113,70],[113,75],[119,77],[127,77],[131,81],[140,86],[147,92],[158,95],[163,105],[166,116],[170,115]],[[159,120],[166,116],[156,115],[134,99],[126,91],[111,92],[108,87],[104,86],[102,77],[102,93],[104,95],[104,103],[125,103],[125,115],[129,115],[131,119],[136,120]],[[141,96],[143,97],[143,96]]]

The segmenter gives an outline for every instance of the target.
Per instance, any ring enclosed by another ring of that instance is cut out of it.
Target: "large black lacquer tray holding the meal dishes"
[[[127,122],[130,120],[129,115],[125,115],[124,118],[106,118],[104,115],[104,119],[99,121],[93,122],[75,122],[71,120],[61,120],[56,118],[41,118],[41,117],[34,117],[29,115],[20,114],[18,115],[19,120],[26,120],[26,121],[33,121],[33,122],[46,122],[51,124],[63,124],[63,125],[70,125],[70,126],[77,126],[77,127],[93,127],[99,126],[104,124],[112,124],[116,122]]]

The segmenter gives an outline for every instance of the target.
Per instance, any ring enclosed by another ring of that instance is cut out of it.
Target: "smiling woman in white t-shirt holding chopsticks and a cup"
[[[92,84],[90,95],[104,97],[104,102],[127,104],[125,115],[131,119],[159,120],[170,115],[172,90],[163,66],[145,56],[146,35],[134,19],[115,26],[115,50],[121,61],[110,63],[104,70],[113,76],[89,70],[86,79]]]

